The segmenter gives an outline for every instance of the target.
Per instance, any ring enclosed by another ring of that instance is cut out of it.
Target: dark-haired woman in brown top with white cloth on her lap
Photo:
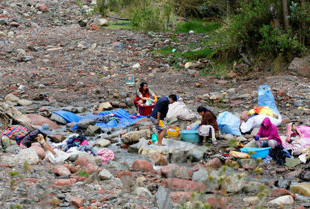
[[[199,115],[203,116],[198,129],[199,134],[202,136],[208,135],[211,138],[213,144],[216,144],[216,138],[220,137],[220,129],[218,128],[218,122],[216,122],[216,115],[214,115],[214,113],[205,107],[198,107],[197,111]],[[209,129],[209,126],[212,126],[214,132],[212,129]],[[209,131],[207,132],[209,133],[205,133],[205,130],[208,129]]]

